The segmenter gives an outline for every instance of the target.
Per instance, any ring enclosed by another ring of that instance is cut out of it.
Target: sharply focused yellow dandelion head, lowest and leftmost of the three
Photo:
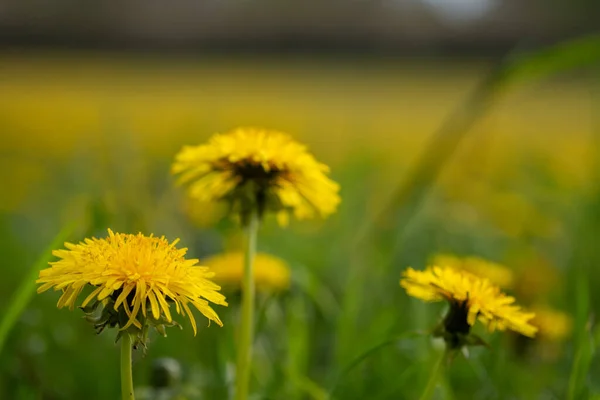
[[[50,288],[62,290],[58,308],[73,309],[84,288],[93,287],[81,307],[92,314],[97,306],[103,306],[102,317],[94,320],[99,331],[118,325],[121,330],[142,335],[149,324],[157,329],[176,324],[171,303],[178,314],[190,319],[194,334],[196,321],[190,304],[222,326],[209,305],[227,305],[218,292],[220,287],[209,280],[214,274],[197,266],[198,260],[185,259],[187,249],[177,249],[178,241],[169,244],[164,237],[113,233],[109,229],[104,239],[65,243],[66,250],[52,253],[60,260],[40,271],[38,293]],[[138,340],[144,338],[138,336]]]

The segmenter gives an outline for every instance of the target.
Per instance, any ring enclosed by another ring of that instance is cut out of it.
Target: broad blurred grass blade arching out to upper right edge
[[[433,136],[430,144],[403,185],[399,186],[390,204],[367,221],[357,234],[357,242],[368,237],[375,227],[394,225],[410,220],[423,203],[438,174],[452,157],[459,144],[478,119],[509,85],[525,79],[541,79],[577,67],[600,62],[600,35],[588,35],[532,51],[511,51],[488,76],[480,82],[458,109],[450,115]],[[390,218],[403,210],[400,218]]]

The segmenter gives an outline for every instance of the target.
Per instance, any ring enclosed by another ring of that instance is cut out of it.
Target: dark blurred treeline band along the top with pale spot
[[[0,0],[3,47],[481,54],[598,28],[598,0]]]

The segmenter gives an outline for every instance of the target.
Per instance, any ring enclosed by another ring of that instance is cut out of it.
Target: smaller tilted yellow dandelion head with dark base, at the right
[[[450,311],[438,334],[451,348],[468,344],[471,327],[479,319],[487,329],[510,329],[533,337],[537,328],[530,323],[533,313],[515,305],[515,299],[500,291],[488,279],[451,267],[429,267],[425,271],[408,268],[400,285],[413,297],[425,301],[446,300]]]

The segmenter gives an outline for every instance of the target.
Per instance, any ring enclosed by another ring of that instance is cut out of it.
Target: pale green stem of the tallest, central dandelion
[[[246,249],[244,257],[244,277],[242,281],[242,320],[236,369],[236,400],[248,398],[250,370],[252,367],[252,342],[254,337],[254,256],[258,233],[258,214],[253,211],[246,226]]]

